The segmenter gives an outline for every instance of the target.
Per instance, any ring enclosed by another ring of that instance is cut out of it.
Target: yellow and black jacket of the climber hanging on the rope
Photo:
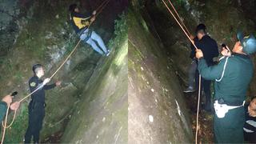
[[[88,28],[90,25],[90,18],[90,14],[79,14],[74,12],[70,14],[70,23],[78,34],[81,30],[86,30]]]

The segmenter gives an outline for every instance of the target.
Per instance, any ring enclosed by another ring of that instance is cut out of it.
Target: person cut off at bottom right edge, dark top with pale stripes
[[[243,126],[243,134],[246,142],[256,143],[256,96],[251,98],[245,106],[246,122]]]

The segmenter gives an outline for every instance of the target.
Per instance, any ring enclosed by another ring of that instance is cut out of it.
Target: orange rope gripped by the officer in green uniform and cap
[[[170,0],[168,0],[170,2]],[[162,2],[165,4],[167,10],[169,10],[170,14],[174,17],[175,21],[178,23],[178,26],[180,26],[184,32],[184,34],[186,34],[186,37],[189,38],[190,42],[193,44],[194,48],[196,50],[198,50],[198,47],[195,46],[193,40],[190,38],[190,36],[186,33],[186,30],[184,30],[184,28],[181,25],[182,19],[178,16],[178,18],[180,19],[181,22],[178,21],[178,19],[175,17],[175,15],[173,14],[173,12],[170,10],[169,6],[167,6],[166,2],[164,0],[162,0]],[[170,2],[170,5],[173,7],[174,11],[177,13],[177,10],[175,10],[173,4]],[[183,23],[183,22],[182,22]],[[185,26],[185,24],[183,23],[183,26]],[[186,27],[186,26],[185,26]],[[187,30],[188,31],[188,30]],[[189,33],[189,32],[188,32]],[[190,33],[189,33],[190,34]],[[198,117],[199,117],[199,107],[200,107],[200,97],[201,97],[201,74],[199,74],[199,83],[198,83],[198,110],[197,110],[197,122],[196,122],[196,132],[195,132],[195,143],[198,143]]]

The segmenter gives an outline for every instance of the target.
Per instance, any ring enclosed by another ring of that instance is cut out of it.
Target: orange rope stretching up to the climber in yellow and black
[[[98,14],[100,14],[102,12],[102,10],[106,7],[106,5],[110,2],[110,0],[105,0],[104,2],[102,2],[102,4],[100,6],[98,6],[98,8],[96,9],[96,14],[95,14],[95,17],[98,16]],[[94,22],[94,21],[93,21]],[[90,25],[93,23],[93,22],[90,22]],[[87,29],[89,29],[90,25],[87,27]],[[76,44],[76,46],[74,46],[73,50],[70,52],[70,54],[66,57],[66,59],[64,60],[64,62],[62,62],[62,65],[58,67],[58,69],[54,72],[54,74],[52,74],[50,76],[50,79],[54,77],[55,74],[58,73],[58,70],[60,70],[62,68],[62,66],[66,63],[66,61],[71,57],[71,55],[74,53],[74,51],[78,48],[78,45],[80,44],[81,42],[81,39],[78,41],[78,43]],[[43,86],[43,85],[42,85]],[[38,91],[39,89],[42,88],[42,86],[39,86],[36,90],[34,90],[33,92],[31,92],[30,94],[27,94],[24,98],[22,98],[21,100],[19,100],[18,102],[23,102],[26,98],[30,97],[30,95],[34,94],[36,91]],[[3,124],[2,122],[2,126],[3,126],[3,134],[2,134],[2,142],[1,144],[3,143],[3,140],[5,138],[5,134],[6,134],[6,128],[9,128],[10,126],[12,126],[12,124],[14,123],[14,120],[16,118],[16,114],[17,114],[17,110],[14,110],[14,118],[12,120],[12,122],[10,122],[10,125],[9,126],[6,126],[7,125],[7,118],[8,118],[8,113],[9,113],[9,109],[10,109],[10,104],[8,105],[7,107],[7,110],[6,110],[6,118],[5,118],[5,122]]]

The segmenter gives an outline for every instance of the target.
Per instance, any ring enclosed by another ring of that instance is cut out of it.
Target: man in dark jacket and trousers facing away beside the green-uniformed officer
[[[197,34],[198,41],[194,41],[195,46],[200,47],[202,50],[202,53],[204,54],[204,58],[206,59],[207,66],[213,66],[214,65],[214,57],[218,57],[218,45],[217,42],[210,38],[208,34],[206,34],[206,26],[204,24],[199,24],[195,30],[195,33]],[[194,54],[194,47],[192,49],[191,54]],[[191,74],[192,75],[192,74]],[[199,74],[198,70],[195,72],[195,83],[196,83],[196,89],[198,89],[198,83],[199,83]],[[191,78],[192,79],[192,78]],[[206,98],[206,103],[203,106],[204,110],[211,111],[212,108],[212,102],[211,102],[211,92],[210,92],[210,80],[206,80],[205,78],[202,78],[201,84],[202,84],[202,95]]]

